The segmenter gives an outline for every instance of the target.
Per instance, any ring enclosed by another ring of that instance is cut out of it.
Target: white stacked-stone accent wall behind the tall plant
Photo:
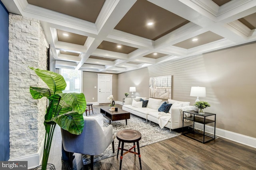
[[[29,87],[47,86],[28,66],[46,70],[47,47],[38,20],[9,14],[10,158],[42,147],[46,98],[34,100]]]

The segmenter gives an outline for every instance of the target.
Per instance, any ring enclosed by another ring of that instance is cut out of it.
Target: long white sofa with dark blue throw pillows
[[[133,98],[138,101],[142,97],[136,97]],[[122,106],[122,109],[125,111],[129,111],[130,113],[137,115],[139,117],[142,117],[146,119],[146,121],[153,121],[154,123],[158,123],[159,125],[162,125],[161,118],[164,118],[164,127],[167,127],[169,129],[177,129],[182,127],[182,118],[183,118],[183,111],[187,110],[193,110],[194,106],[190,106],[190,102],[181,102],[177,100],[161,100],[161,99],[154,99],[149,98],[148,99],[148,105],[147,107],[142,107],[140,102],[136,102],[132,98],[126,98],[125,103]],[[143,100],[146,100],[146,98],[142,98]],[[168,104],[172,104],[170,110],[168,113],[163,113],[158,111],[158,108],[164,103],[167,102]],[[164,117],[162,117],[162,115]],[[190,115],[189,113],[186,115]],[[167,124],[166,124],[167,123]],[[160,127],[161,127],[160,125]],[[184,120],[184,127],[192,125],[191,121]],[[163,127],[163,125],[162,125]]]

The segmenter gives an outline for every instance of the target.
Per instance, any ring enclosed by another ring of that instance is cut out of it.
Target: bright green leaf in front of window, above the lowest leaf
[[[72,106],[73,110],[83,114],[86,109],[86,100],[83,93],[62,93],[61,99]]]

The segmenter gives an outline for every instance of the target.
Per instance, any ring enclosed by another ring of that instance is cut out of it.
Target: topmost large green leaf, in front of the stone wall
[[[30,67],[30,69],[34,70],[36,74],[47,84],[47,86],[52,89],[54,92],[65,90],[67,84],[62,77],[62,75],[48,71],[48,70],[40,70],[39,68],[35,69]]]

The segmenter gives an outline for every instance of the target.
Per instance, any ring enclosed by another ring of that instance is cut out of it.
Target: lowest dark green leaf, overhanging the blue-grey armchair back
[[[50,120],[46,120],[46,123],[55,122],[62,129],[69,131],[69,133],[80,135],[84,129],[84,117],[74,111],[58,115]]]

